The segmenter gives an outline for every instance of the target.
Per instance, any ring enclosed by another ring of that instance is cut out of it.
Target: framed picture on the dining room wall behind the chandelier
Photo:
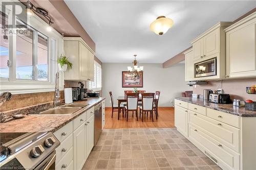
[[[122,71],[122,87],[143,87],[143,73],[135,78],[128,71]]]

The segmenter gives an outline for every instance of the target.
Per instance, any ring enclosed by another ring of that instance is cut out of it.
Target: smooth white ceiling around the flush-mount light
[[[218,21],[233,21],[255,1],[68,1],[68,7],[96,43],[102,62],[163,63]],[[174,26],[164,35],[150,23],[164,15]]]

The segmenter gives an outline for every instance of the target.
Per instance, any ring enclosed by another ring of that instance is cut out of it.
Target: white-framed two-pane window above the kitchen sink
[[[17,20],[18,25],[25,23]],[[16,36],[16,79],[49,80],[48,37],[26,26]]]

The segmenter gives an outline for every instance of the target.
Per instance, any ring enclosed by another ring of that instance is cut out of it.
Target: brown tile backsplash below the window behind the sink
[[[0,111],[9,111],[19,109],[23,107],[50,103],[54,100],[54,91],[39,92],[39,93],[27,93],[27,94],[14,94],[12,99],[7,101],[0,107]],[[64,101],[64,92],[60,91],[60,102]]]

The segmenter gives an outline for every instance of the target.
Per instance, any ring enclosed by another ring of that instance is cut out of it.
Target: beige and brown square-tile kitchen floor
[[[221,169],[176,128],[104,129],[82,169]]]

